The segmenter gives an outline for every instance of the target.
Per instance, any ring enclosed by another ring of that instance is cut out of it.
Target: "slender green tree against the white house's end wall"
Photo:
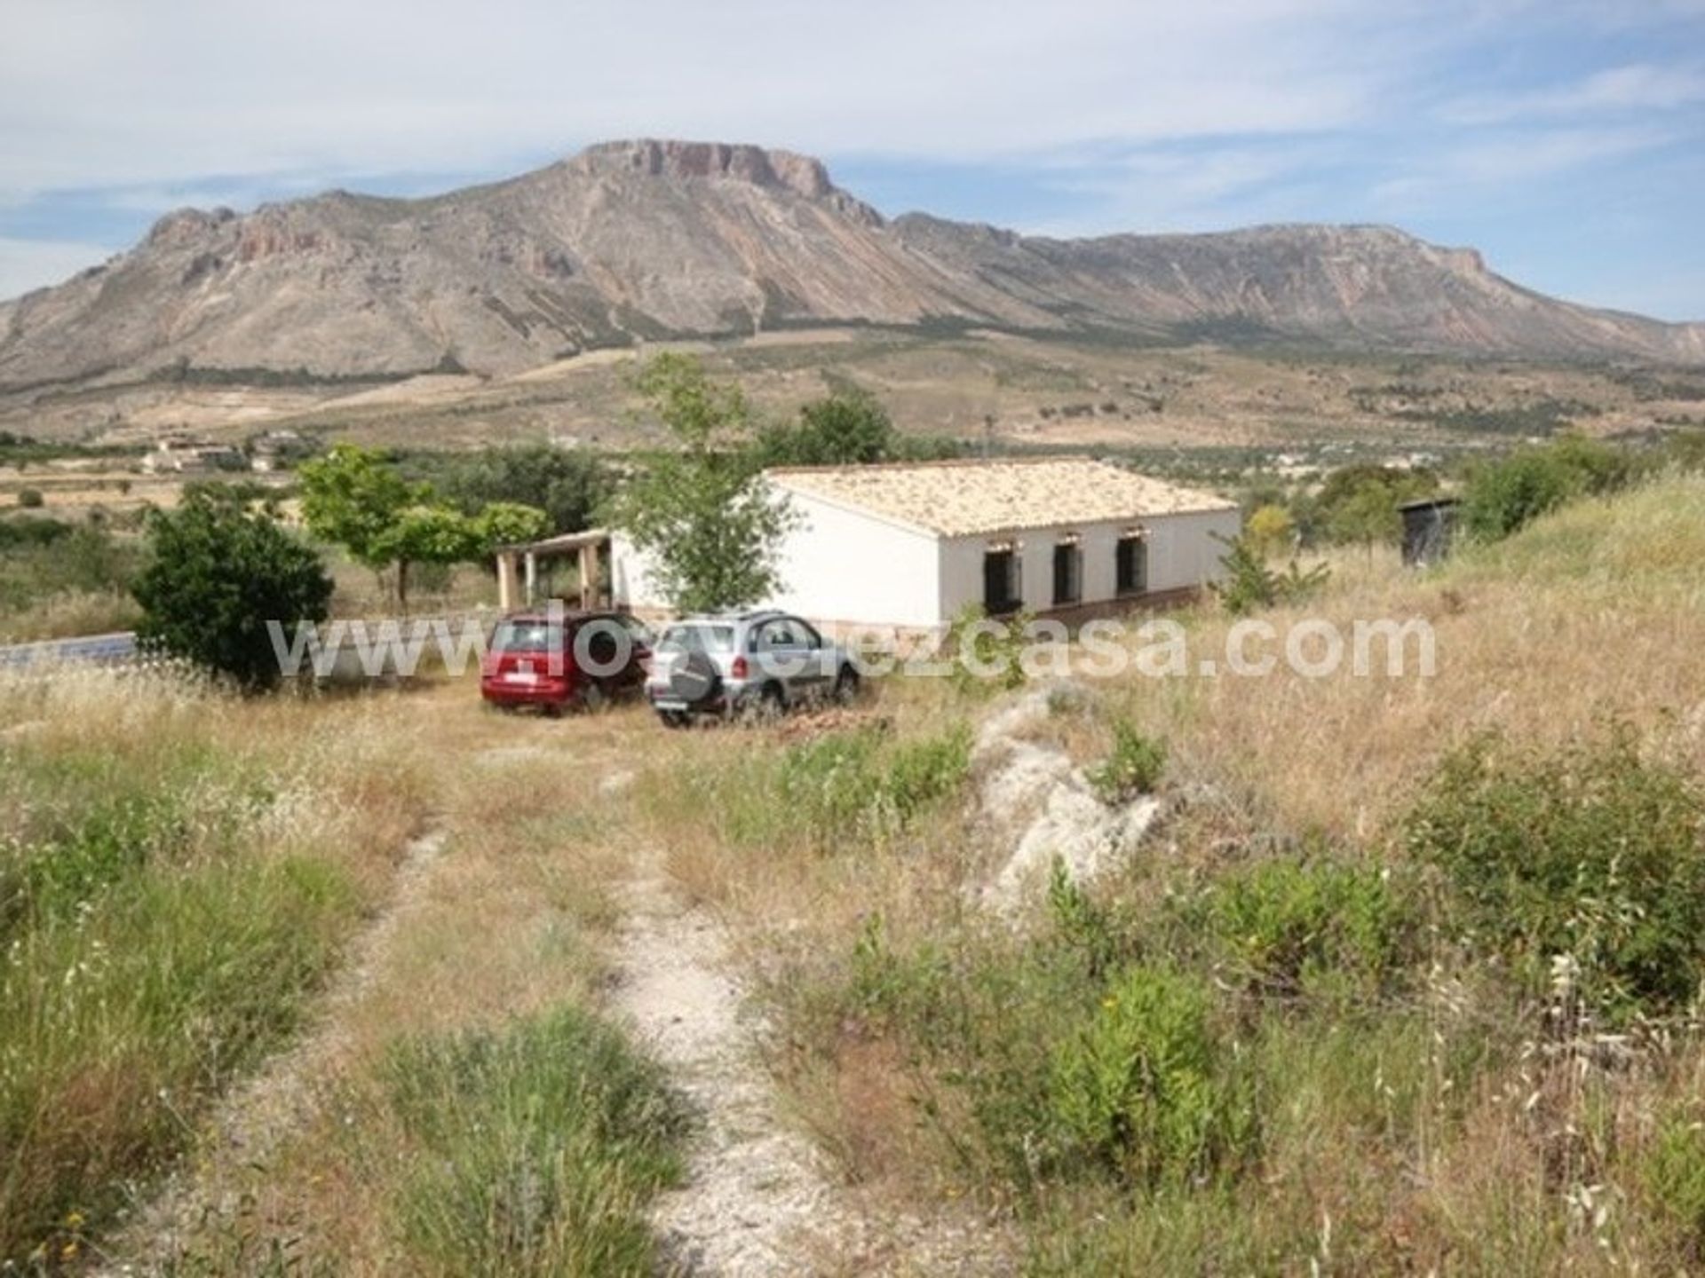
[[[750,412],[740,387],[685,354],[660,354],[634,380],[679,445],[653,458],[610,504],[610,521],[646,552],[679,612],[755,603],[776,590],[776,550],[793,521],[742,448]]]

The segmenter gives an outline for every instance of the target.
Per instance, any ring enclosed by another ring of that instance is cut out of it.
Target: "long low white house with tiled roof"
[[[1086,615],[1170,602],[1221,574],[1234,503],[1078,457],[766,470],[796,523],[767,600],[829,630],[936,630],[991,615]],[[610,542],[616,603],[662,600],[644,556]]]

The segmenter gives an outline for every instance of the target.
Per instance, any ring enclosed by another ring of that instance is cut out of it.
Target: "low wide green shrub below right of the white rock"
[[[1371,866],[1258,861],[1217,878],[1183,915],[1221,966],[1262,995],[1378,997],[1419,959],[1413,898]]]

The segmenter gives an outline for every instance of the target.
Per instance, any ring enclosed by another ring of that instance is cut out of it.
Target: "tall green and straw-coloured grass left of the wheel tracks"
[[[409,769],[363,775],[396,740],[341,717],[0,683],[0,1256],[97,1229],[298,1026],[421,811]]]

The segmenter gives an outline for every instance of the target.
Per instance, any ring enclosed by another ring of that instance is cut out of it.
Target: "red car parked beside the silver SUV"
[[[651,632],[622,612],[517,612],[498,622],[479,666],[479,695],[515,711],[597,707],[644,683]]]

